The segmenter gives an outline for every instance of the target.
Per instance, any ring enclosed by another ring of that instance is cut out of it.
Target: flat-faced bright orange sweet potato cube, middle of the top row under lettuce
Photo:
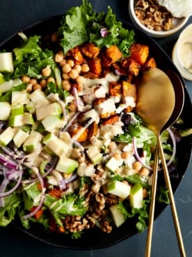
[[[120,52],[118,46],[111,45],[109,48],[106,48],[106,51],[103,56],[102,64],[105,68],[107,68],[121,58],[122,58],[122,52]]]

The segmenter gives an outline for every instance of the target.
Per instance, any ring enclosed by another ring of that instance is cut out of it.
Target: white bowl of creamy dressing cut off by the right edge
[[[173,47],[172,59],[186,80],[192,80],[192,24],[179,35]]]

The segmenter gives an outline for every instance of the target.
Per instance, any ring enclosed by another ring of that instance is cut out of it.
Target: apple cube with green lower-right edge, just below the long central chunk
[[[78,167],[78,161],[67,158],[65,156],[61,156],[56,165],[56,170],[65,173],[74,172],[74,170]]]

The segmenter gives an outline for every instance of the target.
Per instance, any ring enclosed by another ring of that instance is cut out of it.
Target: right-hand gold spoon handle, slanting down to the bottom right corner
[[[182,240],[182,233],[181,233],[181,229],[179,226],[179,219],[177,216],[177,210],[175,207],[175,200],[174,200],[174,196],[173,196],[173,190],[172,190],[172,186],[170,184],[170,177],[168,174],[168,168],[166,166],[166,160],[165,160],[165,156],[163,153],[163,147],[161,145],[161,140],[160,138],[157,139],[158,140],[158,145],[159,145],[159,154],[161,157],[161,162],[162,162],[162,166],[163,166],[163,175],[165,177],[165,181],[166,181],[166,187],[168,189],[168,196],[169,196],[169,200],[170,200],[170,209],[173,215],[173,222],[174,222],[174,226],[175,226],[175,232],[177,235],[177,242],[179,245],[179,251],[182,257],[186,257],[186,253],[185,253],[185,249],[184,249],[184,243]]]

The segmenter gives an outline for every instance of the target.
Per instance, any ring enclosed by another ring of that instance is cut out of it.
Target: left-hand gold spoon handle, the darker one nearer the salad
[[[159,147],[157,145],[156,151],[155,151],[154,170],[153,170],[153,176],[152,176],[152,195],[151,195],[151,203],[150,203],[150,217],[149,217],[149,225],[147,230],[145,257],[151,256],[152,229],[153,229],[153,223],[154,223],[154,207],[155,207],[155,199],[156,199],[156,191],[157,191],[158,163],[159,163]]]

